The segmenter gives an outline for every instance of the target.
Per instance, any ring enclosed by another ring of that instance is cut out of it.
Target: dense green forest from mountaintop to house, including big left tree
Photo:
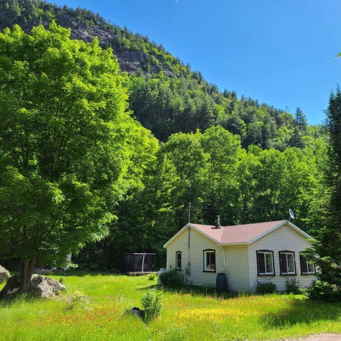
[[[291,208],[319,236],[335,195],[328,124],[221,92],[91,11],[29,0],[1,0],[0,11],[14,24],[0,33],[2,254],[27,258],[29,245],[29,260],[61,264],[72,251],[80,269],[113,270],[125,252],[156,252],[162,267],[189,209],[192,222],[235,225],[289,219]],[[114,39],[71,40],[60,13]],[[29,20],[49,28],[27,34]],[[122,50],[151,55],[160,71],[120,72]]]

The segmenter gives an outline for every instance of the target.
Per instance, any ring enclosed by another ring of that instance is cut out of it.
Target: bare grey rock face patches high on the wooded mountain
[[[14,18],[16,18],[16,14],[14,12],[11,13],[10,10],[0,11],[0,30],[11,26]],[[71,28],[72,39],[91,42],[93,38],[97,36],[99,44],[104,47],[115,37],[113,31],[103,27],[102,25],[87,26],[68,14],[59,14],[56,21],[63,27]],[[22,23],[20,26],[25,32],[30,32],[32,27],[39,24],[42,24],[46,28],[48,27],[47,20],[43,19],[39,22],[36,18],[27,20],[27,22]],[[120,52],[114,51],[114,53],[118,57],[118,63],[120,64],[122,71],[133,74],[142,71],[145,74],[149,74],[158,73],[162,70],[166,76],[172,77],[174,75],[169,66],[147,53],[130,50]]]

